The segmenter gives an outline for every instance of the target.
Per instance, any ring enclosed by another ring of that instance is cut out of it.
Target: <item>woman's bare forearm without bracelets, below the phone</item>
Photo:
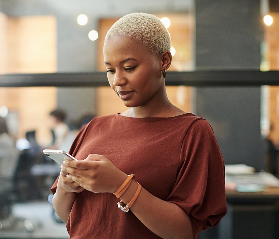
[[[59,179],[60,180],[60,179]],[[52,205],[60,219],[67,223],[76,193],[65,191],[58,180],[56,193],[53,195]]]

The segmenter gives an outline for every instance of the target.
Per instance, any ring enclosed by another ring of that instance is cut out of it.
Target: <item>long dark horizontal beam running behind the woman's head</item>
[[[105,72],[0,75],[0,87],[108,86]],[[166,85],[260,86],[279,85],[279,71],[168,71]]]

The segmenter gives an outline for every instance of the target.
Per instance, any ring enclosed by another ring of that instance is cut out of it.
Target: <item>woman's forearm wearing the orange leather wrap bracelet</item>
[[[128,190],[121,196],[128,203],[137,189],[132,182]],[[153,233],[162,238],[194,238],[189,216],[174,203],[163,201],[144,188],[130,210]]]

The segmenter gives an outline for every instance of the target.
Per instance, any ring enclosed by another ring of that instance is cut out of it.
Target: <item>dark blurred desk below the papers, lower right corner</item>
[[[218,238],[279,238],[279,187],[249,193],[227,190],[226,195],[228,212],[218,225]]]

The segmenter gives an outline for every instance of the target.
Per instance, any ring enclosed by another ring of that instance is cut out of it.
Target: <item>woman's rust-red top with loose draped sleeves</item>
[[[154,196],[190,216],[195,238],[226,214],[223,158],[208,122],[191,113],[170,118],[95,117],[69,152],[102,154]],[[56,191],[57,180],[51,188]],[[78,193],[67,222],[70,238],[159,238],[112,193]],[[61,202],[62,203],[62,202]],[[146,202],[148,203],[148,202]]]

